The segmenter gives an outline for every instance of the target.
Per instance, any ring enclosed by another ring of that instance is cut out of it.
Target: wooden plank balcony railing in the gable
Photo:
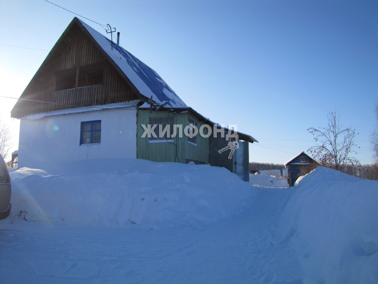
[[[98,105],[102,94],[102,84],[77,89],[68,89],[53,93],[53,103],[57,109],[67,109],[79,106]]]

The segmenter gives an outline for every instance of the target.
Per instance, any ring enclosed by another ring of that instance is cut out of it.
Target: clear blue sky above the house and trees
[[[356,157],[373,160],[376,1],[51,2],[116,27],[121,45],[188,106],[259,140],[250,161],[283,163],[306,150],[307,128],[325,126],[335,108],[359,132]],[[0,44],[50,50],[74,16],[44,0],[0,0]],[[19,97],[47,53],[0,45],[0,93]],[[0,98],[7,119],[14,103]]]

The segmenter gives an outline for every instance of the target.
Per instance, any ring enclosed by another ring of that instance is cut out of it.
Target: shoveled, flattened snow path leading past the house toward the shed
[[[260,188],[242,215],[201,228],[140,230],[0,222],[2,283],[301,283],[279,242],[293,189]]]

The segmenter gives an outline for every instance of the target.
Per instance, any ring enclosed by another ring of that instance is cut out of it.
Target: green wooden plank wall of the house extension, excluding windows
[[[150,114],[149,110],[138,110],[137,111],[137,152],[136,158],[146,159],[155,162],[181,162],[186,163],[186,159],[196,160],[209,163],[209,139],[203,138],[199,134],[197,135],[197,146],[188,143],[188,138],[183,134],[182,138],[178,137],[178,134],[174,138],[174,142],[160,142],[160,143],[149,143],[149,138],[146,136],[141,138],[144,133],[142,124],[148,125],[149,119],[154,117],[167,117],[174,116],[175,123],[181,124],[184,127],[188,123],[188,118],[197,122],[198,129],[204,123],[201,122],[194,115],[189,112],[184,113],[172,113],[169,111],[153,111]],[[177,129],[178,131],[178,129]],[[173,144],[172,144],[173,143]],[[177,155],[176,146],[177,145]]]

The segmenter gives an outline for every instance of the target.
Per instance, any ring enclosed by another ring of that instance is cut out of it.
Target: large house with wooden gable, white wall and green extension
[[[76,17],[11,117],[21,120],[19,167],[138,158],[226,167],[247,179],[248,143],[258,142],[188,107],[158,73]],[[231,158],[218,153],[236,139]]]

